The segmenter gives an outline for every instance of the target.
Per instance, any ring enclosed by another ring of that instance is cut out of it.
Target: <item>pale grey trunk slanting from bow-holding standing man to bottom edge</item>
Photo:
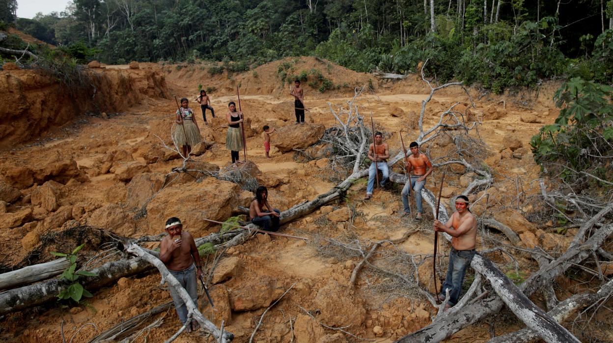
[[[566,328],[555,322],[547,312],[532,303],[503,272],[492,264],[492,261],[477,254],[474,255],[470,265],[489,280],[498,296],[517,318],[544,341],[548,343],[579,342]]]

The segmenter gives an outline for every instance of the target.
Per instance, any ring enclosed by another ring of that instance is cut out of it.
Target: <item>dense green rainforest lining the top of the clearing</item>
[[[613,82],[613,0],[75,0],[33,19],[15,18],[17,6],[0,0],[5,25],[80,62],[200,59],[242,71],[314,55],[403,74],[429,58],[439,80],[495,92],[554,77]]]

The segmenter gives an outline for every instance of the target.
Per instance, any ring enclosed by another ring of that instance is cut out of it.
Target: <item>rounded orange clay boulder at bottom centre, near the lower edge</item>
[[[330,326],[352,326],[357,328],[366,319],[364,299],[352,296],[346,286],[337,280],[328,279],[328,283],[319,289],[313,301],[314,308],[321,310],[318,319]],[[351,309],[340,311],[339,309]]]

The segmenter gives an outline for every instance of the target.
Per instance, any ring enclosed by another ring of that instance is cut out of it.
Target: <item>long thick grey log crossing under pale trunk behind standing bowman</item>
[[[581,261],[590,256],[603,244],[604,240],[612,234],[613,224],[603,226],[598,229],[592,237],[587,239],[584,244],[574,249],[569,249],[557,260],[551,261],[549,264],[539,269],[539,271],[534,272],[520,285],[520,289],[526,296],[531,296],[536,290],[543,287],[543,285],[553,282],[556,277],[568,270],[571,266],[580,264]],[[483,320],[490,315],[497,314],[503,306],[504,302],[498,296],[490,296],[489,298],[481,299],[457,310],[454,315],[441,318],[441,320],[437,320],[414,333],[402,337],[402,339],[397,342],[443,341],[443,339],[466,328],[466,326],[479,322],[479,320]]]

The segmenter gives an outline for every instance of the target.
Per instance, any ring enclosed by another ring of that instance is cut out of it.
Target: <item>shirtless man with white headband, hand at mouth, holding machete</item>
[[[169,218],[166,221],[166,232],[168,236],[164,237],[160,244],[159,259],[166,265],[170,274],[178,280],[181,287],[185,288],[194,304],[198,304],[196,275],[197,277],[202,276],[202,264],[200,263],[200,255],[196,242],[194,242],[194,237],[187,231],[183,231],[181,220],[177,217]],[[196,263],[195,265],[194,262]],[[169,288],[179,320],[185,325],[188,309],[175,288]],[[187,330],[188,332],[194,331],[199,326],[196,320],[192,320]]]

